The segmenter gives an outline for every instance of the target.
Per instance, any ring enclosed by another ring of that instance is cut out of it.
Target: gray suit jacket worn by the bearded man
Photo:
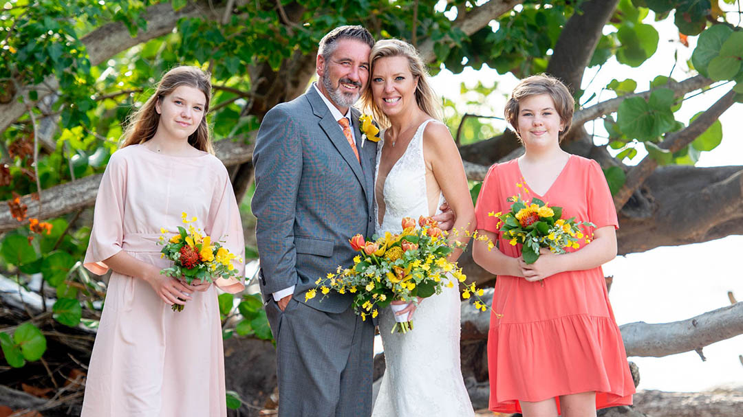
[[[314,88],[272,108],[263,119],[253,151],[258,221],[259,283],[265,299],[295,285],[305,303],[315,281],[350,266],[357,255],[354,234],[374,234],[374,163],[377,144],[362,148],[359,111],[351,108],[359,162],[338,122]],[[328,294],[307,301],[325,312],[343,312],[352,295]]]

